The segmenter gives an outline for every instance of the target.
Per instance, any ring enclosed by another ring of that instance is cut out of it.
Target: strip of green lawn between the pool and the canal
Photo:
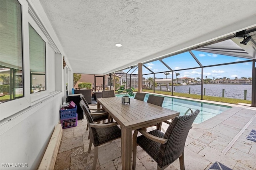
[[[153,93],[153,90],[142,90],[143,92],[150,92]],[[158,94],[163,94],[163,95],[172,95],[172,92],[168,91],[155,91],[155,93]],[[187,94],[187,93],[173,93],[174,96],[179,96],[179,97],[188,97],[192,99],[201,99],[201,95],[194,95],[194,94]],[[242,100],[242,99],[232,99],[232,98],[226,98],[226,97],[214,97],[214,96],[203,96],[204,100],[208,101],[217,101],[217,102],[222,102],[222,103],[231,103],[231,104],[238,104],[238,103],[246,103],[246,104],[252,104],[252,101],[248,100]]]

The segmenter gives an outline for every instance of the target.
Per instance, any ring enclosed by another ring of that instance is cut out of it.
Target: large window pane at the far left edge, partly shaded
[[[21,5],[0,1],[0,103],[24,97]]]

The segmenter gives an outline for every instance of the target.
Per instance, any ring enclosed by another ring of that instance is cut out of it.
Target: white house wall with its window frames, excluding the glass
[[[0,169],[38,168],[55,125],[59,122],[59,110],[66,99],[66,71],[63,69],[65,55],[39,1],[22,1],[24,36],[24,91],[25,97],[1,103],[0,112]],[[29,8],[29,10],[28,10]],[[33,13],[33,14],[29,14]],[[36,18],[36,19],[35,19]],[[34,22],[34,21],[35,22]],[[28,22],[44,36],[46,42],[46,91],[30,94]],[[42,31],[43,29],[43,31]],[[69,65],[68,59],[66,63]],[[67,79],[72,80],[69,67]],[[70,84],[72,82],[70,81]],[[8,114],[9,113],[9,114]],[[6,119],[4,119],[6,118]],[[19,168],[6,168],[5,166]]]

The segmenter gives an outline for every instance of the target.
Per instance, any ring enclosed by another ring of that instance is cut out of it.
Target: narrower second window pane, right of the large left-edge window
[[[30,93],[46,90],[46,44],[29,25]]]

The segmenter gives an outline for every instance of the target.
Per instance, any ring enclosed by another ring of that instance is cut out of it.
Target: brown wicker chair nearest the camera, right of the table
[[[167,168],[178,158],[180,158],[180,169],[184,170],[185,142],[198,113],[199,110],[196,110],[190,115],[175,117],[165,133],[157,129],[150,132],[135,130],[132,137],[132,169],[136,168],[136,147],[140,145],[157,162],[158,170]],[[137,137],[138,132],[142,135]]]

